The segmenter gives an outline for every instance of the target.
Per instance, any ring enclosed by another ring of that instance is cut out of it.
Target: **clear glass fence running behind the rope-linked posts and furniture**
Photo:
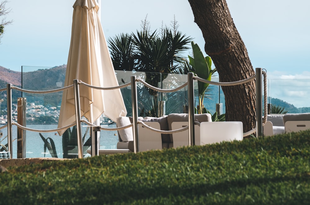
[[[29,67],[23,66],[21,72],[20,85],[16,85],[28,90],[51,90],[64,87],[66,67],[59,66],[54,68],[49,67]],[[164,73],[146,73],[146,72],[130,72],[130,71],[115,71],[119,85],[126,84],[131,81],[131,76],[137,76],[146,81],[148,84],[162,89],[174,89],[187,82],[187,75],[181,74],[164,74]],[[219,81],[218,77],[212,77],[212,81]],[[310,98],[310,79],[306,80],[280,80],[268,79],[268,103],[285,107],[288,113],[303,113],[310,112],[308,102]],[[14,84],[13,84],[14,85]],[[3,85],[6,87],[6,85]],[[0,88],[3,88],[0,87]],[[139,116],[161,116],[170,113],[186,113],[188,109],[188,90],[187,86],[173,93],[161,93],[153,91],[141,83],[137,83],[138,93],[138,115]],[[194,84],[195,106],[198,103],[197,81]],[[127,109],[127,116],[132,116],[131,107],[131,87],[121,89],[124,103]],[[17,98],[24,97],[27,101],[26,110],[26,126],[33,129],[56,129],[62,92],[51,94],[29,94],[21,93],[20,91],[12,90],[12,111],[13,120],[17,121]],[[0,127],[7,123],[6,109],[7,99],[6,91],[0,92],[0,111],[1,124]],[[113,98],[113,96],[111,96]],[[2,102],[1,102],[2,101]],[[211,114],[216,111],[216,103],[223,103],[223,112],[225,113],[225,98],[220,86],[209,85],[206,90],[204,106]],[[165,105],[164,112],[159,109],[160,105]],[[101,126],[116,127],[110,119],[102,115],[100,117]],[[72,128],[71,128],[72,129]],[[7,128],[2,129],[1,144],[5,145],[7,139]],[[16,158],[17,150],[17,129],[13,126],[13,158]],[[90,135],[86,124],[82,124],[82,135],[85,135],[83,142],[84,147],[90,145]],[[74,137],[74,136],[73,136]],[[64,137],[58,136],[58,133],[37,133],[27,131],[26,134],[26,157],[51,157],[71,158],[77,157],[77,145],[74,143],[70,147],[64,147]],[[44,148],[44,141],[55,145],[55,151],[51,154],[48,148]],[[74,141],[74,140],[73,140]],[[75,141],[76,142],[76,141]],[[116,149],[118,142],[117,131],[100,132],[100,148],[101,149]],[[69,154],[64,153],[64,150],[70,150]],[[85,152],[86,156],[90,156]]]

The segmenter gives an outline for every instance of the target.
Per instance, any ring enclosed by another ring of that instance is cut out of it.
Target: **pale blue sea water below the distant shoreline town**
[[[3,126],[3,124],[2,124]],[[57,129],[57,124],[51,125],[36,125],[29,124],[28,128],[32,129]],[[108,125],[107,128],[113,128],[115,125]],[[82,135],[86,132],[86,127],[82,126]],[[7,136],[7,128],[2,129],[3,136],[1,141],[5,136]],[[62,149],[62,136],[58,134],[55,135],[56,132],[50,133],[41,133],[43,137],[50,137],[56,147],[57,157],[63,158],[63,149]],[[115,135],[116,134],[116,135]],[[89,131],[86,135],[85,141],[90,137]],[[13,138],[13,158],[17,158],[17,127],[15,125],[12,126],[12,138]],[[105,131],[101,130],[100,132],[100,149],[116,149],[116,144],[118,142],[117,131]],[[4,139],[1,144],[7,144],[7,138]],[[90,156],[90,155],[86,155]],[[26,158],[37,158],[44,157],[44,142],[40,137],[38,132],[26,131]],[[45,157],[51,157],[51,154],[48,150],[46,150]]]

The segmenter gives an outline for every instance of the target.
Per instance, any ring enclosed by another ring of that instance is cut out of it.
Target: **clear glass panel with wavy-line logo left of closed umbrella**
[[[27,90],[53,90],[62,88],[64,87],[65,73],[65,66],[54,68],[22,66],[22,88]],[[23,92],[22,96],[27,99],[26,125],[28,128],[38,130],[57,128],[62,92],[47,94]],[[82,128],[82,134],[85,133],[83,129],[86,128]],[[89,138],[89,135],[87,136]],[[63,147],[62,138],[62,136],[58,136],[57,132],[39,133],[27,131],[26,157],[57,156],[58,158],[63,158],[65,148]],[[53,144],[55,145],[55,152],[53,151],[53,154],[47,148],[44,150],[45,140],[52,146]],[[72,150],[75,149],[73,146],[71,148]],[[77,152],[73,153],[73,155],[77,155]]]

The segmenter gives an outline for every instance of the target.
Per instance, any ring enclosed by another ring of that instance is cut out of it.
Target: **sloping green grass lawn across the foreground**
[[[52,161],[0,174],[2,204],[308,204],[310,131]]]

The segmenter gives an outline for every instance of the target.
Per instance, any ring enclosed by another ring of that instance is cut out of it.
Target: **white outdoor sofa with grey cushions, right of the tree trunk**
[[[310,113],[271,114],[263,126],[264,136],[310,129]]]

